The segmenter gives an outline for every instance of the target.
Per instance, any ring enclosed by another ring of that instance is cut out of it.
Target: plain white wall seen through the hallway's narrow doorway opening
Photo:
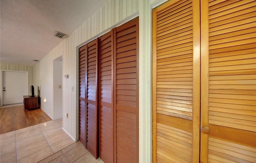
[[[53,61],[53,120],[62,118],[62,61]]]

